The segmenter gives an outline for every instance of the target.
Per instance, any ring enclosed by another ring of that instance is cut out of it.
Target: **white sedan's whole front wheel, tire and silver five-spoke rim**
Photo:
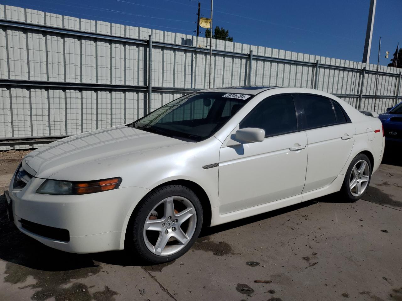
[[[182,185],[159,187],[137,205],[127,229],[130,249],[148,262],[174,260],[191,248],[202,221],[201,203],[191,189]]]

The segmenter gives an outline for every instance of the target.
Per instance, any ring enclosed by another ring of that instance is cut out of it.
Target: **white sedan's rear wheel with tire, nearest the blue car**
[[[357,201],[369,187],[370,180],[370,160],[366,155],[358,154],[349,165],[340,193],[349,201]]]

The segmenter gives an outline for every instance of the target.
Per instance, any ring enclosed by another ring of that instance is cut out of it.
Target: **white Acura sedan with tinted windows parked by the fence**
[[[6,203],[21,232],[52,248],[160,263],[187,252],[202,226],[335,192],[360,199],[383,151],[380,120],[331,94],[209,89],[34,150]]]

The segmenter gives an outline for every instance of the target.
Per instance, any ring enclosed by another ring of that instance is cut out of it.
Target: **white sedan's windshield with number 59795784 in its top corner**
[[[246,94],[193,93],[127,124],[148,132],[189,141],[201,141],[222,127],[251,99]]]

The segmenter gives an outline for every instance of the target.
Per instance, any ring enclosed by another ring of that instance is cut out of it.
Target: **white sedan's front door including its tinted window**
[[[239,128],[262,128],[265,140],[222,145],[219,214],[299,195],[307,166],[307,137],[297,123],[291,95],[261,101]]]

